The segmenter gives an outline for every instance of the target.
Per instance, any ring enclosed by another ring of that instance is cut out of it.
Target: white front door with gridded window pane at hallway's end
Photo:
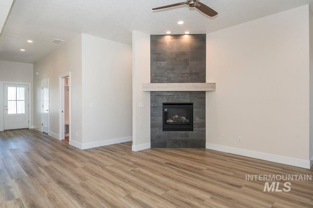
[[[28,128],[28,85],[4,84],[4,130]]]

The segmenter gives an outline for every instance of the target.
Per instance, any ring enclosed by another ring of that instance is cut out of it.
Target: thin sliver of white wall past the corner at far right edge
[[[313,12],[309,9],[310,27],[310,158],[313,165]]]

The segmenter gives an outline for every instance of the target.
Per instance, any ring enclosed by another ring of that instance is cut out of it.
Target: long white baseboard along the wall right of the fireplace
[[[301,160],[301,159],[296,159],[296,158],[284,157],[284,156],[273,155],[273,154],[268,154],[268,153],[263,153],[263,152],[255,152],[251,150],[240,149],[240,148],[229,147],[229,146],[222,146],[222,145],[215,145],[215,144],[210,144],[210,143],[206,143],[205,148],[232,153],[236,155],[242,155],[242,156],[251,157],[251,158],[256,158],[256,159],[261,159],[261,160],[267,160],[267,161],[275,162],[275,163],[291,165],[291,166],[303,167],[303,168],[308,168],[308,169],[310,169],[311,167],[309,160]]]

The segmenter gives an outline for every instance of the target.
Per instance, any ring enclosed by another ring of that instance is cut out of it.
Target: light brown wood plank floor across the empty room
[[[131,145],[80,150],[34,129],[2,131],[0,207],[313,207],[311,180],[290,181],[289,192],[264,192],[268,181],[246,180],[247,174],[313,175],[313,168],[209,149],[133,152]]]

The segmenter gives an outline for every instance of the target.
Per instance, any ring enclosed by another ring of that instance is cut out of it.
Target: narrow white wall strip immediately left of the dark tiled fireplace
[[[150,148],[150,92],[142,91],[150,83],[150,35],[133,31],[133,150]],[[144,103],[144,108],[139,108]]]

